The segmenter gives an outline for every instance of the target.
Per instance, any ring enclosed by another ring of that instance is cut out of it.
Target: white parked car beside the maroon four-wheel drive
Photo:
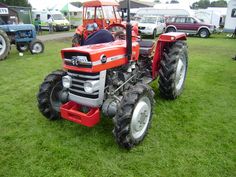
[[[165,19],[162,16],[145,16],[139,21],[138,28],[141,35],[149,35],[155,38],[165,32]]]

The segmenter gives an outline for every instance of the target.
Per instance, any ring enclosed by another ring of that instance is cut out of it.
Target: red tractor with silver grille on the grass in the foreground
[[[39,110],[49,120],[93,127],[103,112],[112,118],[114,137],[126,149],[138,145],[150,127],[154,91],[148,84],[159,79],[161,96],[175,99],[183,91],[188,66],[186,35],[166,33],[156,42],[139,41],[129,7],[127,1],[125,26],[99,30],[84,45],[61,50],[63,70],[49,74],[37,96]],[[114,38],[111,32],[117,29],[120,35]]]

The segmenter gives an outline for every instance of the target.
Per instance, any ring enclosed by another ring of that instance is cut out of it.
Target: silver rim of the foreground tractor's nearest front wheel
[[[148,97],[142,97],[133,111],[130,132],[134,139],[139,139],[145,133],[151,116],[151,102]]]

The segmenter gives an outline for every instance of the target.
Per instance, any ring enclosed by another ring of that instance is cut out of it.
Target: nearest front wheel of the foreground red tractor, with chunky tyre
[[[127,91],[113,118],[113,134],[117,143],[126,149],[138,145],[151,125],[154,92],[148,85],[137,84]]]

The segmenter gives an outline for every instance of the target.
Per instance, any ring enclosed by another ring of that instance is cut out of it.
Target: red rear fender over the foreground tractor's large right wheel
[[[179,40],[187,40],[185,33],[178,33],[178,32],[171,32],[165,33],[159,36],[159,39],[156,43],[155,53],[153,57],[152,63],[152,78],[155,79],[158,76],[159,68],[160,68],[160,61],[163,56],[164,47],[168,43],[174,43]]]

